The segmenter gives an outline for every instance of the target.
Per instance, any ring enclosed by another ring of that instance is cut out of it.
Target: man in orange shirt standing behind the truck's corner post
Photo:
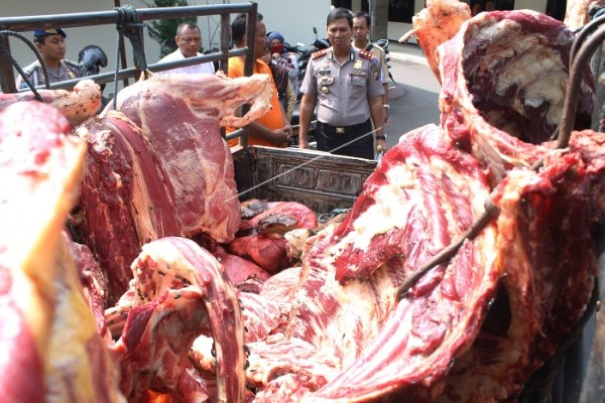
[[[258,14],[257,19],[257,37],[254,44],[254,68],[253,73],[264,73],[271,76],[270,67],[260,58],[263,57],[267,49],[267,28],[263,22],[263,16]],[[231,23],[231,35],[235,47],[243,48],[246,46],[246,14],[238,15]],[[229,59],[229,72],[231,78],[242,77],[244,75],[244,57],[232,57]],[[253,121],[248,126],[248,143],[250,146],[273,146],[287,147],[292,136],[292,126],[286,117],[283,106],[277,95],[275,83],[273,83],[273,95],[271,97],[272,108]],[[235,141],[230,141],[229,145],[234,146]]]

